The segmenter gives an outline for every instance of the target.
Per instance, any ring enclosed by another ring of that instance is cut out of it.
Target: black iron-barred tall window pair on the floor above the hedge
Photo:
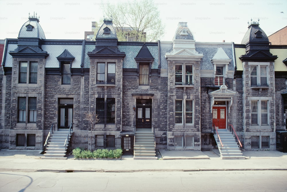
[[[115,99],[97,98],[96,113],[99,115],[99,124],[115,124]]]

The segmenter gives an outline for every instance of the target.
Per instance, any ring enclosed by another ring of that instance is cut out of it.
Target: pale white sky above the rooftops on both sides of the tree
[[[103,18],[102,2],[107,1],[0,0],[0,39],[17,38],[29,12],[40,16],[46,39],[84,39],[84,32],[91,31],[92,21]],[[260,19],[260,27],[267,36],[287,25],[286,0],[154,0],[154,3],[166,26],[161,41],[172,41],[180,21],[187,22],[197,42],[225,40],[236,44],[241,43],[251,18]]]

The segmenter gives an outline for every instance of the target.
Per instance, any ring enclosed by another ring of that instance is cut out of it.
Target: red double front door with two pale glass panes
[[[218,129],[226,129],[226,107],[212,108],[212,122]]]

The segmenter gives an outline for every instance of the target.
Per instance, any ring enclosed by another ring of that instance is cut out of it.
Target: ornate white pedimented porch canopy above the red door
[[[228,102],[228,113],[229,113],[230,107],[232,105],[233,96],[235,94],[236,92],[228,90],[226,85],[221,85],[219,90],[208,93],[208,95],[210,95],[211,98],[210,112],[212,113],[214,101],[229,101]]]

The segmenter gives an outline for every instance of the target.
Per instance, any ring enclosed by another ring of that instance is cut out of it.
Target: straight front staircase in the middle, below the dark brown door
[[[135,131],[135,160],[157,160],[154,146],[154,133],[151,129],[137,129]]]

